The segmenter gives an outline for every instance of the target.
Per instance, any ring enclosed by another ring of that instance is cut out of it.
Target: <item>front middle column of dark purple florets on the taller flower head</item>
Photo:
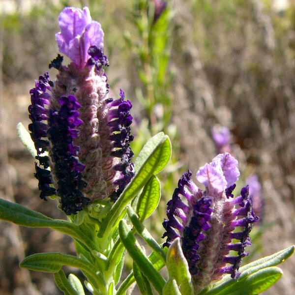
[[[58,179],[58,195],[61,209],[67,214],[76,214],[89,203],[81,190],[86,186],[82,179],[85,165],[77,157],[79,147],[73,140],[79,135],[76,128],[83,124],[78,109],[81,105],[74,95],[59,98],[60,109],[51,110],[48,135],[52,144],[51,158]]]

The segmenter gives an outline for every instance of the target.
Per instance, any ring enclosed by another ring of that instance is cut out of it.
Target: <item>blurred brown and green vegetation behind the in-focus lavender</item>
[[[240,186],[252,173],[262,185],[265,213],[249,260],[294,244],[295,1],[167,0],[157,18],[161,2],[0,0],[0,197],[65,218],[54,201],[39,199],[34,160],[16,124],[28,125],[29,89],[57,55],[60,10],[87,5],[105,32],[112,95],[122,88],[134,106],[135,156],[159,131],[173,143],[160,176],[163,198],[146,224],[155,237],[164,232],[166,203],[181,174],[188,168],[195,174],[216,155],[210,130],[220,124],[233,134]],[[50,74],[54,79],[55,70]],[[73,254],[69,237],[2,221],[0,236],[0,294],[60,294],[51,274],[18,264],[36,252]],[[282,269],[265,294],[294,294],[295,258]]]

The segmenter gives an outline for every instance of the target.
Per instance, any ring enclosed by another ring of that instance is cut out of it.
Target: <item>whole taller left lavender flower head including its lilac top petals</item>
[[[35,164],[41,199],[57,195],[61,209],[75,214],[96,199],[116,201],[134,176],[132,104],[122,90],[109,97],[104,33],[89,9],[64,8],[59,27],[59,51],[71,63],[58,55],[49,65],[57,80],[45,73],[30,90],[29,131],[43,166]]]

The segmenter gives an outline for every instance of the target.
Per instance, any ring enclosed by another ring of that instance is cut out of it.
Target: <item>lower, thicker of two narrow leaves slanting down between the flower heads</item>
[[[125,246],[133,261],[137,264],[139,269],[145,273],[145,276],[151,282],[151,284],[153,284],[156,291],[162,295],[162,290],[166,281],[148,260],[148,257],[144,254],[126,221],[123,219],[120,220],[119,223],[119,235],[123,245]]]

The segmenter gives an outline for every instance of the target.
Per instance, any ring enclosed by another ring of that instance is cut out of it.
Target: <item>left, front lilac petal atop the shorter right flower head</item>
[[[218,166],[213,167],[211,164],[206,164],[199,169],[197,180],[203,183],[206,188],[213,188],[218,193],[223,192],[227,184],[221,169]]]

